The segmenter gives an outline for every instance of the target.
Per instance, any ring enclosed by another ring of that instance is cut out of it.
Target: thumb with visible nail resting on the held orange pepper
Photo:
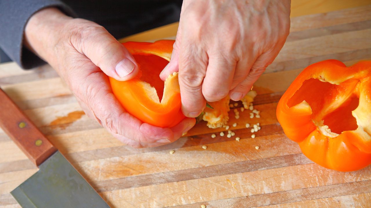
[[[76,49],[109,77],[126,81],[138,74],[138,65],[129,51],[102,26],[81,32]]]

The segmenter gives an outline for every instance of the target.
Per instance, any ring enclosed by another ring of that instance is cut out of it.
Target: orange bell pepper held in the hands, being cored
[[[178,74],[171,74],[165,82],[159,77],[170,61],[173,44],[174,40],[124,43],[137,61],[139,73],[128,81],[109,78],[112,92],[125,110],[158,127],[173,127],[185,118],[181,112]]]

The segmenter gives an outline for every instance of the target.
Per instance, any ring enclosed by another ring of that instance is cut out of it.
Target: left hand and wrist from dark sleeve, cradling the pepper
[[[177,140],[193,127],[186,118],[173,128],[142,123],[126,113],[112,94],[108,76],[128,80],[138,73],[135,59],[102,26],[72,19],[50,8],[26,25],[25,44],[66,81],[87,115],[118,140],[133,147],[155,147]]]

